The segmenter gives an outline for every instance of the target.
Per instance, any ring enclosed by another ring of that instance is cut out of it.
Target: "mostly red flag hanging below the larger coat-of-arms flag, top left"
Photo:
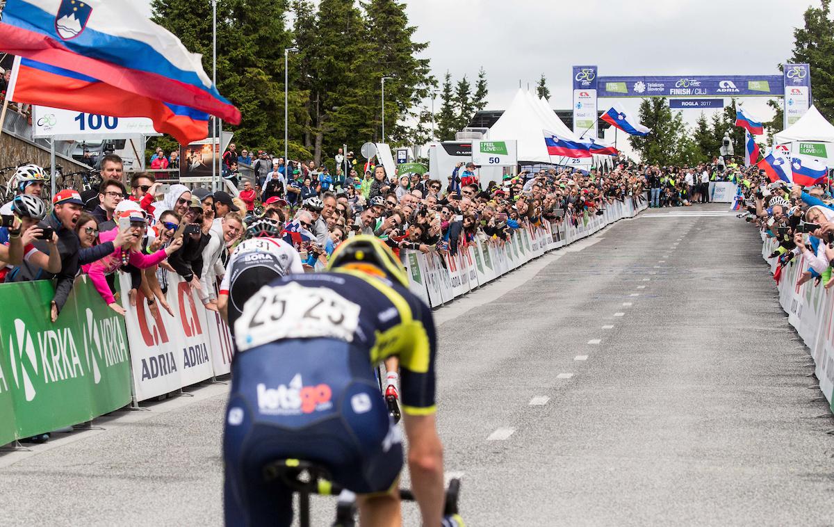
[[[147,117],[157,132],[168,133],[182,144],[208,136],[208,113],[126,92],[68,69],[17,57],[12,78],[8,97],[18,103],[113,117]]]

